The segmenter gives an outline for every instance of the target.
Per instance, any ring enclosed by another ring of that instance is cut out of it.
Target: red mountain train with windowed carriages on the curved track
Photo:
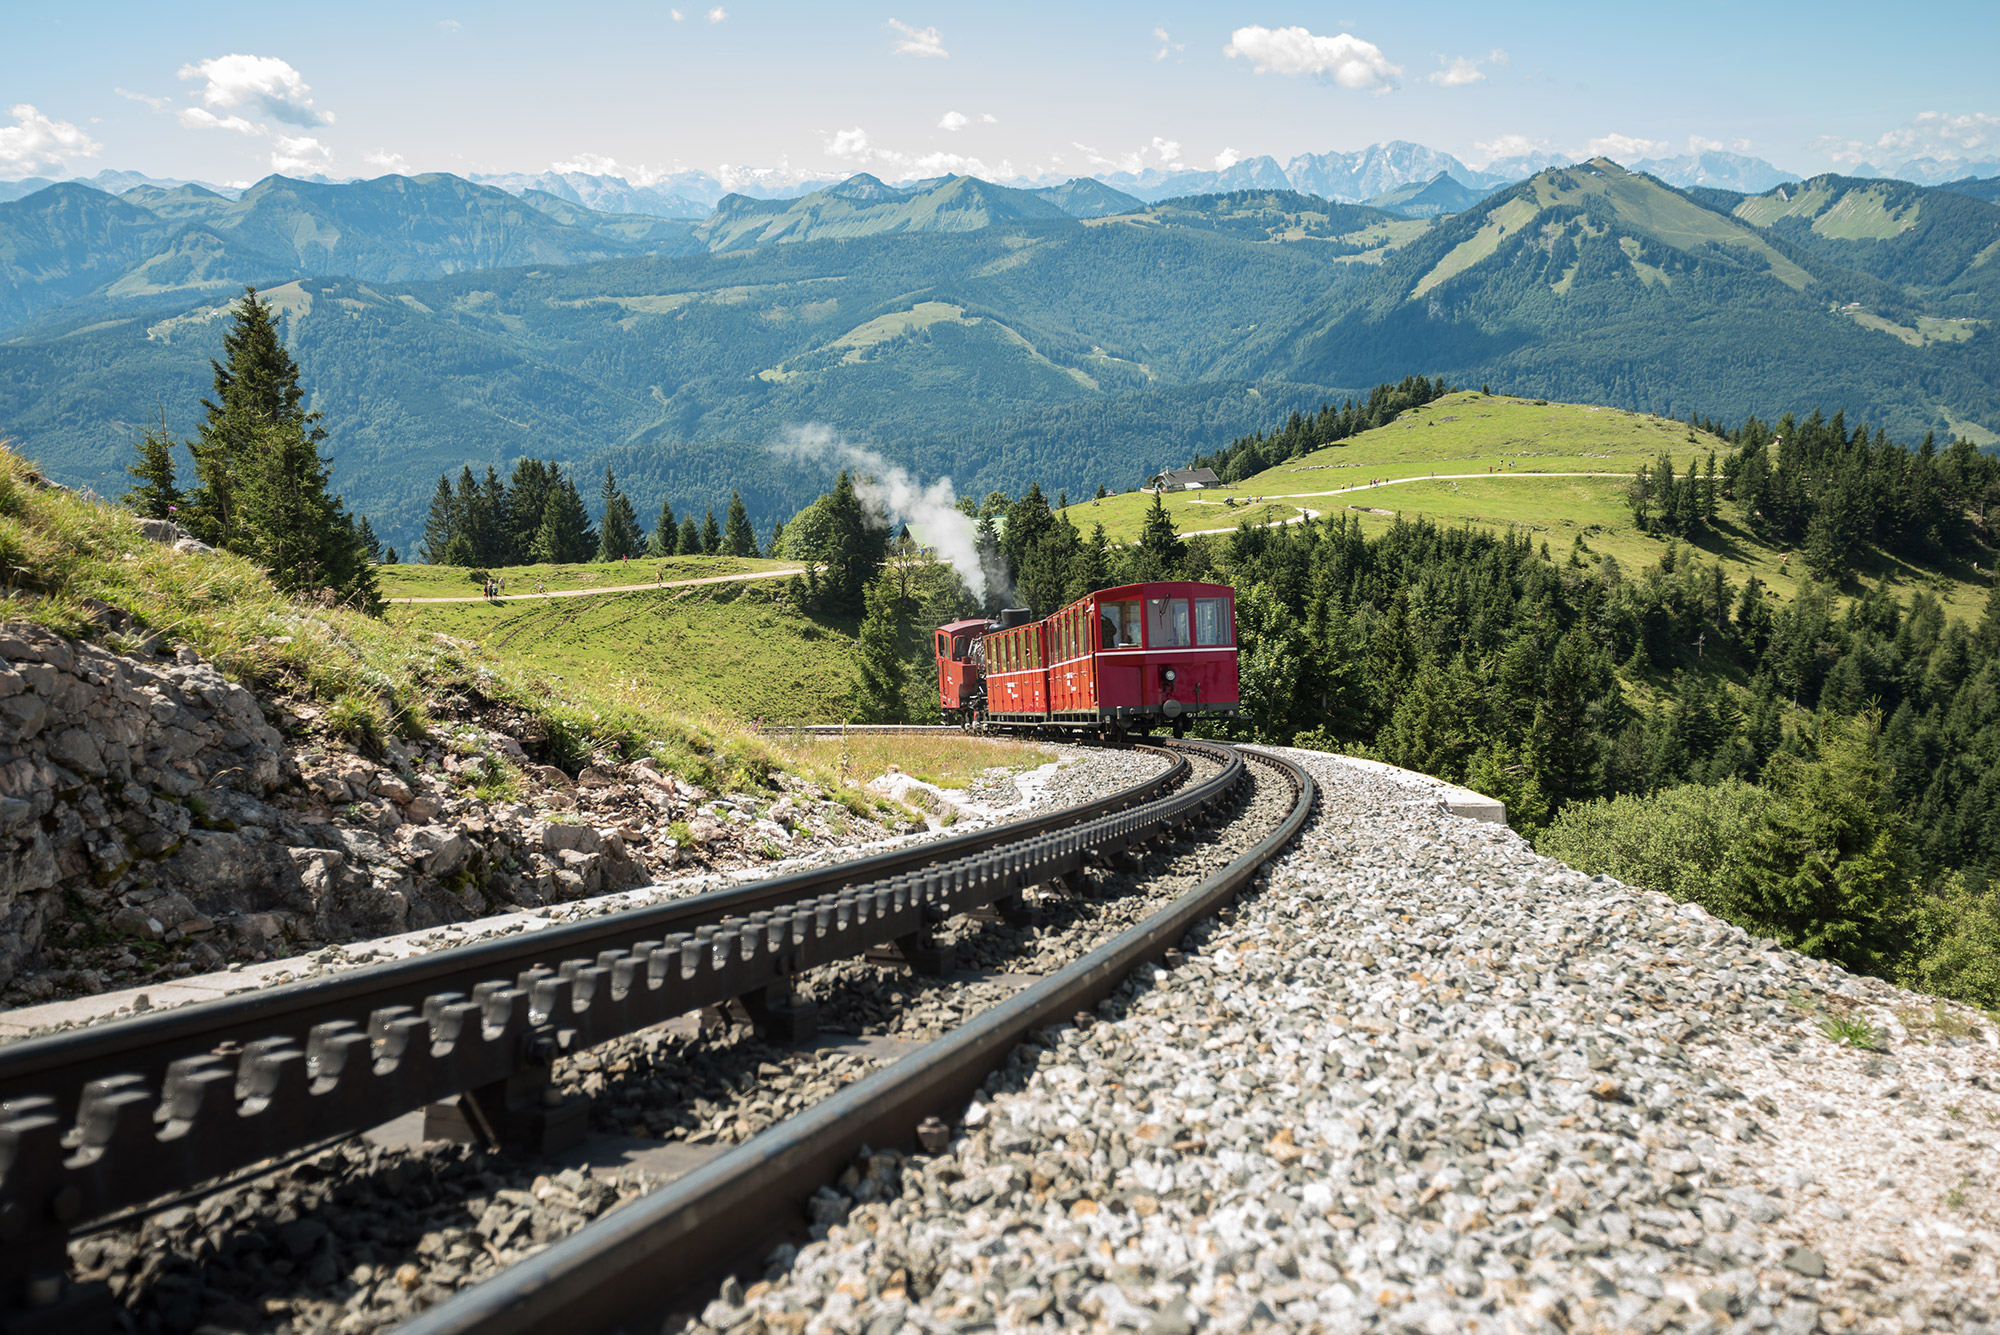
[[[934,636],[938,705],[966,727],[1180,737],[1196,715],[1236,717],[1236,590],[1128,584],[1030,622],[952,622]]]

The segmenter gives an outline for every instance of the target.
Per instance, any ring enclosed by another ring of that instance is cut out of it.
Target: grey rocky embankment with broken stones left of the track
[[[648,759],[568,773],[524,717],[374,753],[190,650],[0,626],[0,1001],[96,993],[920,829],[774,775],[706,793]]]

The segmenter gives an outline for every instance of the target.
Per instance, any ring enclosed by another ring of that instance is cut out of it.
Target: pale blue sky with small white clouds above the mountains
[[[2000,158],[2000,4],[10,4],[0,178]],[[616,164],[616,166],[612,166]]]

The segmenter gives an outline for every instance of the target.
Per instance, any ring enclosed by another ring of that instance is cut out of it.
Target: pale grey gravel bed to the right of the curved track
[[[2000,1329],[1990,1023],[1294,755],[1232,923],[690,1335]]]

